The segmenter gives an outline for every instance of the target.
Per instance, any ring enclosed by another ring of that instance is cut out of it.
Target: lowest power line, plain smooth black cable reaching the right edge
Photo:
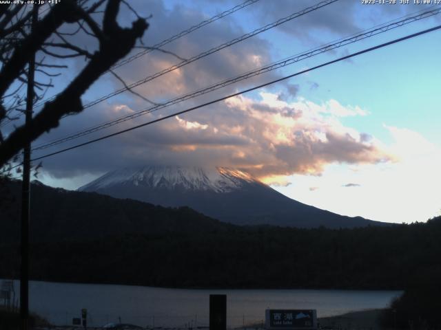
[[[349,54],[349,55],[347,55],[347,56],[342,56],[342,57],[337,58],[337,59],[335,59],[335,60],[333,60],[333,61],[329,61],[329,62],[326,62],[326,63],[322,63],[322,64],[320,64],[320,65],[316,65],[315,67],[311,67],[311,68],[309,68],[309,69],[305,69],[305,70],[302,70],[302,71],[300,71],[300,72],[296,72],[295,74],[290,74],[289,76],[285,76],[285,77],[283,77],[283,78],[278,78],[278,79],[276,79],[276,80],[271,80],[269,83],[265,83],[265,84],[262,84],[262,85],[258,85],[258,86],[256,86],[256,87],[252,87],[252,88],[249,88],[249,89],[245,89],[245,90],[243,90],[243,91],[239,91],[239,92],[237,92],[237,93],[230,94],[230,95],[228,95],[228,96],[223,96],[222,98],[217,98],[216,100],[212,100],[212,101],[209,101],[209,102],[205,102],[205,103],[200,104],[200,105],[198,105],[198,106],[196,106],[196,107],[192,107],[192,108],[189,108],[189,109],[186,109],[186,110],[183,110],[183,111],[178,111],[178,112],[176,112],[176,113],[172,113],[171,115],[166,115],[165,117],[158,118],[158,119],[156,119],[156,120],[152,120],[152,121],[150,121],[150,122],[145,122],[144,124],[139,124],[139,125],[136,125],[136,126],[132,126],[132,127],[130,127],[129,129],[123,129],[123,130],[118,131],[118,132],[115,132],[115,133],[107,134],[107,135],[104,135],[104,136],[102,136],[102,137],[96,138],[96,139],[94,139],[94,140],[90,140],[90,141],[87,141],[87,142],[83,142],[83,143],[81,143],[81,144],[76,144],[75,146],[70,146],[69,148],[64,148],[64,149],[61,149],[61,150],[59,150],[59,151],[55,151],[54,153],[49,153],[49,154],[47,154],[47,155],[43,155],[43,156],[40,156],[40,157],[36,157],[36,158],[32,159],[32,161],[36,161],[36,160],[43,159],[43,158],[46,158],[46,157],[50,157],[50,156],[53,156],[53,155],[58,155],[59,153],[64,153],[65,151],[70,151],[70,150],[72,150],[72,149],[79,148],[79,147],[81,147],[81,146],[86,146],[86,145],[88,145],[88,144],[92,144],[92,143],[94,143],[94,142],[99,142],[99,141],[101,141],[101,140],[105,140],[105,139],[107,139],[107,138],[109,138],[109,137],[113,137],[113,136],[116,136],[116,135],[120,135],[120,134],[122,134],[122,133],[126,133],[126,132],[129,132],[129,131],[133,131],[134,129],[139,129],[139,128],[143,127],[143,126],[147,126],[147,125],[150,125],[150,124],[154,124],[154,123],[156,123],[156,122],[161,122],[162,120],[166,120],[166,119],[169,119],[169,118],[175,117],[176,115],[181,115],[181,114],[183,114],[183,113],[187,113],[187,112],[190,112],[190,111],[194,111],[194,110],[196,110],[196,109],[199,109],[199,108],[202,108],[202,107],[206,107],[207,105],[214,104],[214,103],[217,103],[217,102],[220,102],[220,101],[223,101],[223,100],[227,100],[227,98],[233,98],[233,97],[235,97],[235,96],[239,96],[239,95],[241,95],[241,94],[248,93],[249,91],[254,91],[254,90],[256,90],[256,89],[259,89],[259,88],[262,88],[262,87],[266,87],[266,86],[268,86],[268,85],[272,85],[272,84],[274,84],[274,83],[278,83],[278,82],[280,82],[280,81],[287,80],[287,79],[289,79],[289,78],[293,78],[294,76],[298,76],[298,75],[300,75],[300,74],[305,74],[305,73],[307,73],[307,72],[311,72],[311,71],[313,71],[313,70],[319,69],[320,67],[325,67],[325,66],[327,66],[327,65],[331,65],[331,64],[334,64],[334,63],[338,63],[338,62],[340,62],[340,61],[347,60],[348,58],[352,58],[352,57],[355,57],[355,56],[359,56],[359,55],[361,55],[361,54],[365,54],[365,53],[367,53],[367,52],[372,52],[373,50],[378,50],[378,49],[380,49],[380,48],[382,48],[382,47],[386,47],[386,46],[388,46],[388,45],[393,45],[393,44],[395,44],[395,43],[400,43],[400,42],[405,41],[405,40],[407,40],[407,39],[415,38],[416,36],[420,36],[420,35],[422,35],[422,34],[427,34],[427,33],[429,33],[429,32],[433,32],[433,31],[435,31],[435,30],[440,30],[440,29],[441,29],[441,25],[437,25],[437,26],[435,26],[434,28],[430,28],[430,29],[427,29],[427,30],[422,30],[422,31],[420,31],[420,32],[416,32],[416,33],[413,33],[413,34],[409,34],[409,35],[407,35],[407,36],[403,36],[402,38],[394,39],[393,41],[388,41],[387,43],[382,43],[382,44],[380,44],[380,45],[376,45],[376,46],[373,46],[373,47],[367,48],[367,49],[365,49],[365,50],[361,50],[360,52],[356,52],[356,53],[353,53],[353,54]],[[17,165],[17,166],[20,166],[20,164]],[[17,166],[14,166],[14,167],[17,167]],[[7,170],[3,170],[3,172],[6,172],[6,171],[7,171]]]

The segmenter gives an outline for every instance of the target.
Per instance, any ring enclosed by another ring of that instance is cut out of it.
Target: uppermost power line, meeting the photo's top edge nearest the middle
[[[147,50],[143,50],[137,54],[134,54],[133,56],[130,56],[129,58],[125,58],[123,61],[116,63],[113,67],[110,68],[110,70],[116,69],[116,68],[121,67],[123,65],[126,65],[127,63],[134,61],[136,58],[140,58],[141,56],[144,56],[145,54],[148,54],[148,53],[152,52],[153,50],[157,50],[158,48],[161,48],[164,45],[171,43],[172,41],[175,41],[183,36],[186,36],[187,34],[190,34],[200,28],[203,28],[205,25],[208,25],[209,23],[213,23],[214,21],[218,21],[218,19],[222,19],[223,17],[226,17],[229,14],[237,12],[238,10],[243,9],[243,8],[247,7],[248,5],[252,5],[253,3],[256,3],[258,1],[260,1],[260,0],[247,0],[247,1],[244,1],[243,3],[240,3],[239,5],[234,6],[233,8],[230,8],[228,10],[225,10],[224,12],[221,12],[220,14],[216,14],[214,17],[206,19],[205,21],[201,21],[200,23],[193,25],[192,27],[188,28],[187,30],[183,30],[177,34],[174,34],[173,36],[170,36],[170,38],[168,38],[168,39],[165,39],[159,43],[156,43],[156,45],[153,45],[152,47],[150,47]],[[44,11],[41,12],[41,14],[43,14],[44,12],[47,12],[49,9],[50,9],[50,7],[46,8]],[[107,70],[107,72],[110,72],[110,70]],[[105,73],[107,73],[107,72],[105,72]],[[45,104],[45,102],[49,102],[51,100],[54,100],[55,98],[57,98],[57,96],[59,96],[59,94],[55,94],[54,96],[51,96],[50,98],[46,98],[45,100],[41,100],[40,102],[37,102],[36,104],[34,104],[34,107],[39,107],[40,105]],[[17,107],[14,107],[12,109],[15,109],[15,108],[17,108]],[[8,124],[9,122],[7,122],[6,124]]]

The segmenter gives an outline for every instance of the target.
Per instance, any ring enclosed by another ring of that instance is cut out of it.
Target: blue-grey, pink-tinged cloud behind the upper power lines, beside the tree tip
[[[149,6],[145,6],[145,1],[135,1],[134,6],[136,7],[136,5],[143,8],[144,11],[146,8],[150,8],[152,14],[152,19],[149,20],[150,27],[143,38],[143,43],[147,46],[152,46],[158,41],[176,34],[176,32],[186,30],[207,19],[201,10],[188,8],[185,5],[175,5],[172,9],[167,9],[162,1],[149,1]],[[241,28],[232,15],[205,25],[202,29],[163,46],[163,49],[189,59],[247,32],[249,30]],[[270,49],[269,41],[261,38],[260,35],[253,36],[135,87],[134,91],[150,100],[162,102],[271,63]],[[139,50],[134,50],[132,53],[137,52]],[[125,78],[126,83],[130,84],[178,63],[181,63],[181,60],[172,55],[153,51],[116,69],[116,72]],[[246,80],[246,82],[225,87],[222,91],[215,91],[210,94],[209,98],[199,99],[212,99],[217,95],[232,93],[238,87],[257,85],[276,77],[279,75],[275,72],[269,72],[263,76]],[[121,83],[118,80],[111,76],[108,77],[108,80],[114,88],[121,88]],[[100,94],[103,94],[103,91]],[[134,108],[145,104],[141,98],[130,98],[130,102],[130,106]]]

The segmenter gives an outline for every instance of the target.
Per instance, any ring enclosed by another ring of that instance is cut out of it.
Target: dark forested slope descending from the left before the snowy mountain
[[[0,241],[17,242],[21,181],[10,181],[6,188],[14,200],[6,205],[0,203]],[[163,208],[94,192],[51,188],[41,183],[32,184],[30,200],[32,241],[78,241],[121,234],[198,234],[233,227],[189,208]]]

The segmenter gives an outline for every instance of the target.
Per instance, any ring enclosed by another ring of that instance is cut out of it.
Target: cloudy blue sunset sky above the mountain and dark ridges
[[[260,0],[163,48],[181,58],[251,32],[319,1]],[[145,45],[234,7],[236,1],[130,1],[148,20]],[[340,0],[227,47],[134,90],[164,102],[282,58],[439,5],[363,5]],[[136,17],[121,7],[121,24]],[[45,155],[105,133],[150,121],[266,83],[334,58],[441,24],[441,14],[347,45],[110,129],[41,151]],[[66,27],[68,29],[68,27]],[[426,221],[440,214],[441,31],[362,54],[191,113],[68,151],[43,161],[39,179],[74,189],[108,170],[145,164],[228,166],[247,170],[283,194],[339,214],[388,222]],[[86,36],[79,44],[96,47]],[[139,52],[133,51],[133,54]],[[127,83],[180,62],[150,52],[116,69]],[[55,94],[83,67],[72,60],[56,79]],[[100,78],[83,102],[120,89]],[[151,104],[123,93],[65,118],[34,146],[127,115]]]

